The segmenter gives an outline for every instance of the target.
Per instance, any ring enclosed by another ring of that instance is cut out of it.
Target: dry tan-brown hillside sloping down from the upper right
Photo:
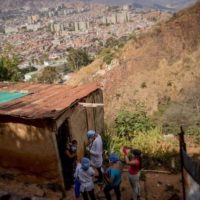
[[[161,123],[200,123],[200,3],[128,42],[107,68],[97,59],[82,80],[104,89],[105,116],[143,104]],[[99,71],[94,69],[99,66]],[[92,75],[91,75],[92,74]],[[80,74],[79,74],[80,76]],[[94,78],[91,78],[94,77]],[[79,77],[80,78],[80,77]]]

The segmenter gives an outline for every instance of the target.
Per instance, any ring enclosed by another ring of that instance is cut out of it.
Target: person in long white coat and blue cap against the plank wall
[[[103,163],[103,142],[101,136],[97,134],[94,130],[89,130],[87,132],[87,138],[89,140],[87,151],[90,155],[91,165],[95,167],[99,173],[97,182],[101,182],[103,180],[103,175],[101,171]]]

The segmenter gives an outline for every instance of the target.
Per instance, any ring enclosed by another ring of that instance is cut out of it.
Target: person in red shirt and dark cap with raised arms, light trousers
[[[128,170],[128,178],[133,190],[132,199],[138,200],[140,198],[141,151],[138,149],[130,150],[130,158],[128,157],[128,151],[125,148],[123,152],[125,155],[126,164],[130,165]]]

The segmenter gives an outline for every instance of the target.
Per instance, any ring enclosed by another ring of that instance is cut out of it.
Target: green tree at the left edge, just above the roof
[[[0,57],[0,81],[19,81],[21,80],[21,72],[18,68],[19,59],[17,56],[1,56]]]

